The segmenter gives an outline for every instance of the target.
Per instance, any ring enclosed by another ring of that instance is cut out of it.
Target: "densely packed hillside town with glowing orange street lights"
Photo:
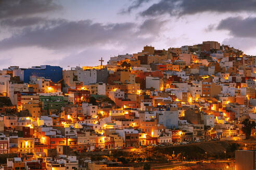
[[[106,152],[110,158],[116,150],[256,133],[245,132],[242,123],[256,119],[256,56],[203,41],[162,50],[145,46],[97,62],[0,70],[1,169],[132,170],[121,159],[79,155]]]

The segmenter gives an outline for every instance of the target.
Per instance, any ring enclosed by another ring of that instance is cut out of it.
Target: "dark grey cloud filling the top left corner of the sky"
[[[0,0],[0,19],[20,18],[61,8],[53,0]]]

